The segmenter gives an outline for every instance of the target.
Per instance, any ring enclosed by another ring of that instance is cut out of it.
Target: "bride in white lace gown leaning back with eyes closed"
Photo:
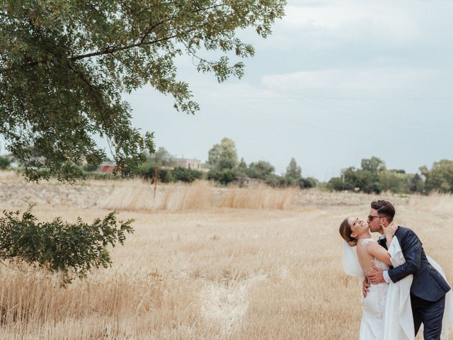
[[[394,268],[406,262],[403,251],[394,236],[398,227],[391,222],[387,227],[381,225],[386,246],[379,245],[372,239],[367,222],[355,217],[346,218],[340,225],[343,237],[343,267],[345,273],[357,276],[362,281],[375,268],[384,271],[389,266]],[[431,258],[428,261],[445,278],[442,268]],[[374,267],[374,268],[373,268]],[[362,302],[362,322],[360,339],[362,340],[413,340],[415,329],[411,307],[410,290],[413,275],[393,283],[369,285],[369,293]],[[443,318],[442,339],[448,339],[449,324],[453,325],[453,296],[451,291],[446,295],[445,314]]]

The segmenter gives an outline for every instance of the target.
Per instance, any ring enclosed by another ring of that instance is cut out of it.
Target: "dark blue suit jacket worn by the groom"
[[[406,263],[389,269],[390,279],[396,283],[402,278],[413,274],[411,294],[423,300],[439,300],[450,290],[450,287],[426,259],[420,239],[411,229],[399,226],[396,229],[395,236],[398,237]],[[385,239],[379,240],[379,244],[384,246],[384,248],[386,248],[385,243]]]

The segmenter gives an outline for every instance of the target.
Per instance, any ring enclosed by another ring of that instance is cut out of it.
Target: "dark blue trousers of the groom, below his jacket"
[[[445,295],[437,301],[420,299],[411,294],[415,335],[423,322],[423,339],[439,340],[442,333],[442,318],[445,310]]]

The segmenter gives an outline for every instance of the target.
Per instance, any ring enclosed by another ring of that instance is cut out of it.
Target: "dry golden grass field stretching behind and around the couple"
[[[159,186],[154,199],[142,181],[38,185],[0,173],[1,210],[135,219],[112,268],[67,288],[0,266],[0,339],[357,339],[361,286],[341,268],[338,226],[377,198],[200,182]],[[453,197],[379,198],[453,282]]]

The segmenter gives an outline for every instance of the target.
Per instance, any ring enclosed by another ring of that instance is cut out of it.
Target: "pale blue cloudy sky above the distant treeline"
[[[239,33],[256,49],[242,79],[219,84],[179,57],[201,110],[144,87],[125,100],[157,147],[207,160],[223,137],[247,163],[328,181],[364,158],[415,173],[452,159],[453,1],[289,0],[273,34]],[[201,53],[200,53],[201,55]]]

